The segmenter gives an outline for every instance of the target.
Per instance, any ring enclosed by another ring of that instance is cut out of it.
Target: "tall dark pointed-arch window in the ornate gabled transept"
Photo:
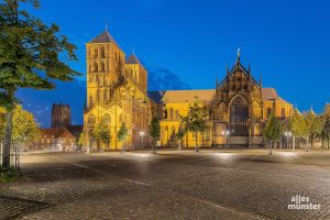
[[[246,100],[238,96],[230,105],[230,129],[232,136],[248,135],[248,103]]]

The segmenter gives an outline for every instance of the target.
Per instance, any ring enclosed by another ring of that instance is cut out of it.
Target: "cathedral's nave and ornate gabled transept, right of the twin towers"
[[[282,99],[275,89],[263,88],[250,66],[245,68],[240,61],[228,69],[223,79],[208,90],[166,90],[150,91],[161,110],[161,145],[176,146],[176,132],[180,117],[186,116],[189,105],[198,98],[208,109],[208,130],[198,136],[187,132],[185,147],[195,147],[196,139],[201,146],[255,147],[263,145],[263,127],[272,113],[287,121],[293,106]]]

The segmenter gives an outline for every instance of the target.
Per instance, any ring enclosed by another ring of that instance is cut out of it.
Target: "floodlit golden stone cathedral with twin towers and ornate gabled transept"
[[[241,63],[228,68],[215,89],[147,91],[147,70],[133,53],[125,56],[108,30],[86,45],[87,103],[84,113],[84,144],[92,148],[136,150],[150,143],[151,119],[160,119],[158,145],[177,146],[176,132],[180,116],[187,114],[195,98],[208,109],[208,131],[195,136],[187,132],[184,147],[194,147],[196,139],[201,146],[256,147],[263,145],[263,127],[274,113],[287,120],[293,106],[282,99],[275,89],[263,88],[253,77],[250,65]],[[97,144],[92,130],[100,121],[110,128],[110,143]],[[118,131],[128,128],[129,138],[121,143]]]

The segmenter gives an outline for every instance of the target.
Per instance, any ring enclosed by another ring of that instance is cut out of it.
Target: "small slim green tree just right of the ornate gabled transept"
[[[273,152],[272,152],[272,142],[276,141],[280,136],[280,133],[282,133],[280,123],[276,119],[274,113],[272,113],[268,121],[267,121],[267,123],[266,123],[266,127],[263,131],[264,139],[266,141],[270,141],[270,143],[271,143],[270,144],[270,155],[273,154]]]

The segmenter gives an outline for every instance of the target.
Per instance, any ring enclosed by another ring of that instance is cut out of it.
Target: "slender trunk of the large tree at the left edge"
[[[10,145],[11,145],[11,134],[12,134],[12,114],[13,109],[8,108],[6,110],[6,130],[4,130],[4,140],[2,148],[2,166],[8,168],[10,167]]]

